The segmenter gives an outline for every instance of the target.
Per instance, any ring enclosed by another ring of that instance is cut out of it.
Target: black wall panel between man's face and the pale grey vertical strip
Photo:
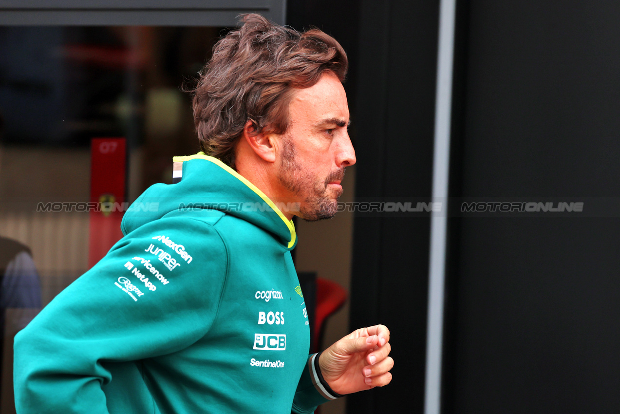
[[[431,195],[438,1],[362,1],[356,199]],[[415,202],[415,201],[414,201]],[[423,410],[428,213],[356,214],[351,328],[391,331],[393,380],[348,397],[349,413]]]

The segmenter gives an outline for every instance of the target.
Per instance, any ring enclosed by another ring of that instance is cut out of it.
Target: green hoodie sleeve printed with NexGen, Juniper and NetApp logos
[[[226,283],[212,226],[167,218],[123,237],[15,337],[20,414],[108,413],[102,361],[182,350],[203,337]]]

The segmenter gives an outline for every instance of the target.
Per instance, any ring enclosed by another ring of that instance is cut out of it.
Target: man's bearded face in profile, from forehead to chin
[[[314,86],[294,92],[290,123],[282,136],[278,180],[301,218],[336,214],[345,167],[355,164],[347,133],[347,95],[339,79],[325,73]],[[295,214],[295,213],[293,213]]]

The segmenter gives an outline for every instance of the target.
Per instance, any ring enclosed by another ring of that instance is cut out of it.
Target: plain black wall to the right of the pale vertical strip
[[[443,412],[618,412],[620,4],[458,17],[451,195],[584,206],[450,219]]]

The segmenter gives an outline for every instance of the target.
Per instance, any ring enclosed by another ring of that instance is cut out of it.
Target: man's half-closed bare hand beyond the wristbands
[[[392,381],[391,349],[384,325],[358,329],[321,353],[321,374],[338,394],[383,387]]]

